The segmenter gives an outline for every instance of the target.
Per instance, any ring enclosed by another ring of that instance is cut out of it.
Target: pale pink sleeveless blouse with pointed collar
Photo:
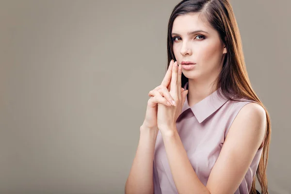
[[[184,89],[188,89],[188,82]],[[220,88],[219,88],[220,89]],[[236,115],[251,100],[241,102],[220,97],[217,90],[190,107],[186,97],[176,126],[193,169],[206,186],[226,134]],[[260,148],[235,194],[248,194],[262,154]],[[154,151],[154,194],[178,194],[159,131]]]

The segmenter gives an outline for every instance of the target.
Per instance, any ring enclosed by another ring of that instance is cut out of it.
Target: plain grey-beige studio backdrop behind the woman
[[[0,1],[1,194],[124,193],[178,2]],[[291,1],[231,4],[271,115],[269,191],[291,194]]]

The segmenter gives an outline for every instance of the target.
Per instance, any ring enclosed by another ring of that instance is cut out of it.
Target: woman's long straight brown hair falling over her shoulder
[[[182,0],[179,2],[173,9],[168,23],[167,68],[172,59],[176,61],[171,38],[173,22],[177,16],[189,13],[199,13],[199,16],[206,18],[210,25],[219,33],[221,40],[226,45],[227,53],[223,67],[215,80],[217,82],[216,89],[221,87],[223,96],[230,100],[240,101],[241,98],[246,98],[255,101],[261,105],[266,112],[266,133],[263,144],[259,147],[263,147],[263,152],[256,174],[261,186],[261,193],[268,194],[266,168],[271,139],[271,120],[266,107],[259,100],[248,78],[242,50],[241,35],[232,6],[228,0]],[[182,74],[181,80],[182,86],[184,86],[188,78]],[[218,92],[220,92],[220,90],[218,90]],[[250,194],[256,194],[256,176],[254,176]]]

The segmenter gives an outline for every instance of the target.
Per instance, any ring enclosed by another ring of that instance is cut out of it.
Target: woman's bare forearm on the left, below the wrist
[[[125,194],[153,194],[154,149],[159,129],[140,127],[140,139],[125,184]]]

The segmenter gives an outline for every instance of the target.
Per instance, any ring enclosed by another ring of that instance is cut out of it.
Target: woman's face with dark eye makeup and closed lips
[[[221,72],[226,53],[225,45],[215,29],[198,18],[198,14],[177,16],[173,23],[172,40],[178,64],[182,61],[196,64],[190,70],[182,68],[186,78],[214,81]]]

